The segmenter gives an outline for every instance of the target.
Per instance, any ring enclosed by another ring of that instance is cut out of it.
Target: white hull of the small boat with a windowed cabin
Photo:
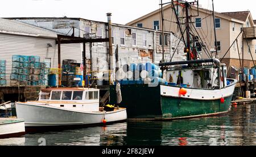
[[[24,118],[26,127],[42,126],[79,126],[102,124],[107,122],[126,120],[126,109],[112,112],[77,112],[56,107],[16,103],[17,117]]]

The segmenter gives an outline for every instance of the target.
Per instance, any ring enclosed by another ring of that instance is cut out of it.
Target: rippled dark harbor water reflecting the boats
[[[256,104],[237,105],[228,114],[166,122],[127,121],[74,130],[28,133],[0,139],[0,145],[71,146],[248,146],[256,145]]]

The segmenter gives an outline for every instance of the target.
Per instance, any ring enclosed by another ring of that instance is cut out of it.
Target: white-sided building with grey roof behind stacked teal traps
[[[0,60],[6,60],[7,86],[10,86],[14,55],[39,56],[40,62],[51,60],[51,67],[57,68],[56,39],[56,32],[22,22],[0,19]],[[70,58],[81,62],[80,44],[61,45],[61,62]]]

